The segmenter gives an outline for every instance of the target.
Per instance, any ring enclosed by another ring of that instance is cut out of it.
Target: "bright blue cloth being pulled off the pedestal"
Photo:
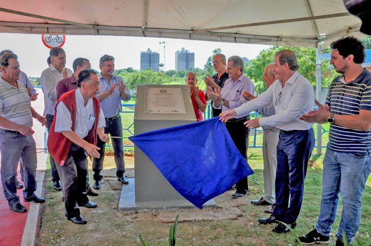
[[[254,173],[218,117],[129,139],[175,190],[200,209],[206,201]]]

